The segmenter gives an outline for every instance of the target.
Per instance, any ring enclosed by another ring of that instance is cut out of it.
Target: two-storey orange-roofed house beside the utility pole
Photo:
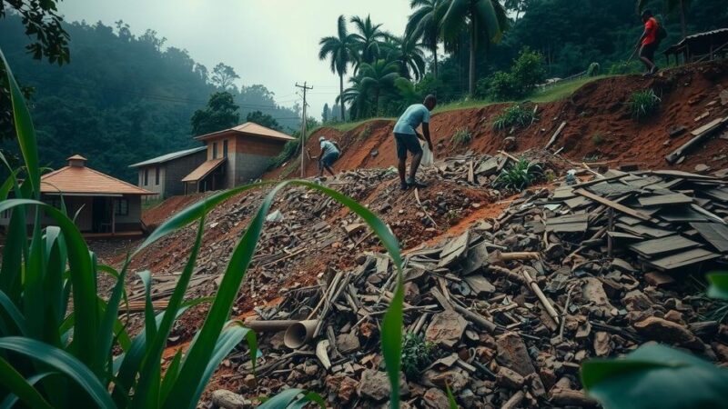
[[[207,145],[207,160],[181,180],[186,193],[228,189],[258,179],[290,135],[252,122],[195,137]]]

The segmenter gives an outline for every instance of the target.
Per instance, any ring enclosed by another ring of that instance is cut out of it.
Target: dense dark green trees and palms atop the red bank
[[[546,78],[640,70],[637,62],[623,64],[642,34],[638,6],[650,7],[664,23],[668,37],[662,48],[679,41],[683,27],[689,35],[728,26],[722,0],[411,0],[410,5],[401,36],[369,17],[341,16],[337,34],[321,39],[319,57],[342,83],[353,72],[336,100],[346,103],[346,119],[399,115],[426,94],[440,102],[519,100]],[[501,7],[508,12],[505,20]],[[470,13],[475,9],[480,14]],[[433,54],[438,49],[444,57]],[[519,75],[524,69],[528,75]]]

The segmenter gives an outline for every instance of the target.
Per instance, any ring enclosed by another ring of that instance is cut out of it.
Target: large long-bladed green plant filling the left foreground
[[[5,56],[0,52],[5,63]],[[240,285],[256,251],[265,217],[278,192],[287,185],[307,186],[329,195],[359,214],[372,227],[397,267],[397,287],[382,323],[382,350],[389,379],[399,375],[402,326],[401,256],[397,239],[366,207],[348,196],[306,181],[270,182],[240,186],[210,195],[205,200],[172,215],[150,234],[127,258],[121,271],[96,263],[76,224],[65,207],[56,209],[41,202],[41,167],[37,141],[23,96],[5,63],[15,131],[25,161],[22,170],[11,172],[0,188],[0,213],[11,212],[0,267],[0,398],[4,406],[22,401],[27,407],[175,407],[195,408],[207,381],[218,364],[244,339],[255,362],[255,334],[237,320],[229,320]],[[18,181],[21,176],[24,182]],[[212,298],[185,301],[197,263],[207,214],[230,197],[258,187],[271,187],[248,229],[235,245],[217,294]],[[13,198],[8,198],[12,192]],[[42,227],[40,220],[53,220]],[[197,236],[187,264],[178,276],[167,309],[155,314],[151,303],[151,274],[140,273],[146,288],[144,326],[129,334],[118,319],[126,299],[125,281],[129,260],[161,238],[191,224]],[[30,226],[30,234],[28,234]],[[111,294],[102,298],[97,276],[116,279]],[[73,307],[69,308],[69,303]],[[211,303],[204,324],[183,352],[162,367],[167,338],[180,315],[196,304]],[[118,353],[121,352],[121,354]],[[397,383],[392,389],[399,396]],[[288,389],[260,405],[261,408],[303,407],[317,394]]]

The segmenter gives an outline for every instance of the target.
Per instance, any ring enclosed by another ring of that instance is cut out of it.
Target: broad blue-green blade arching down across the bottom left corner
[[[0,338],[0,349],[14,351],[23,354],[28,358],[35,359],[50,366],[57,371],[66,374],[93,399],[101,408],[115,408],[116,405],[106,392],[104,385],[98,382],[96,375],[73,355],[62,349],[35,341],[34,339],[19,336],[8,336]],[[3,373],[5,371],[0,371]],[[17,394],[17,391],[11,390]]]

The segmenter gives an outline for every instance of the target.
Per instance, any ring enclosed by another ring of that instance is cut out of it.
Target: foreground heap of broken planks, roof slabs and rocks
[[[405,407],[448,408],[446,385],[465,408],[590,406],[581,362],[651,341],[728,363],[716,314],[725,304],[691,276],[728,259],[726,195],[725,171],[610,170],[525,193],[499,217],[406,254]],[[252,328],[289,330],[259,338],[258,377],[247,351],[230,356],[235,394],[213,402],[300,387],[332,407],[388,407],[379,328],[395,272],[386,254],[356,261],[257,308]],[[291,336],[299,320],[316,320],[310,337]]]

